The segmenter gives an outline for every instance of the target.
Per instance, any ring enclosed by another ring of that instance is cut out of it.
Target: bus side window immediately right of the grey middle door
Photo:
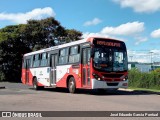
[[[59,54],[59,64],[67,64],[68,61],[68,48],[60,50]]]

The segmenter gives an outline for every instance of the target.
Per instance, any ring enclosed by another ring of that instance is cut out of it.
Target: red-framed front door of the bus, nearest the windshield
[[[82,49],[82,86],[90,87],[90,48]]]

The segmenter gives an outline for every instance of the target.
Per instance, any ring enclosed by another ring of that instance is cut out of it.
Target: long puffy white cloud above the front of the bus
[[[102,29],[101,33],[109,35],[136,35],[144,31],[143,22],[128,22],[117,27],[105,27]]]

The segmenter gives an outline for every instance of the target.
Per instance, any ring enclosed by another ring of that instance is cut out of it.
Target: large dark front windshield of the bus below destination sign
[[[126,50],[115,48],[94,48],[93,66],[100,71],[126,71]]]

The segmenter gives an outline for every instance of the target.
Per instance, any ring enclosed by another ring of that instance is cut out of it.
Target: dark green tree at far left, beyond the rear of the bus
[[[31,51],[20,37],[20,27],[7,26],[0,30],[0,73],[8,81],[20,80],[22,56]]]

